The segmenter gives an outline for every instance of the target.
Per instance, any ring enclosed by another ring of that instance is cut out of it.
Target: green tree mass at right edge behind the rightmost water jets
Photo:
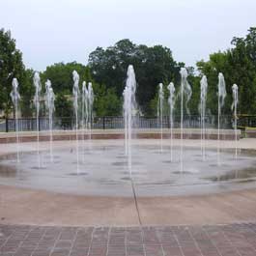
[[[208,105],[216,113],[217,74],[225,76],[227,100],[224,111],[231,113],[232,85],[239,85],[239,112],[255,114],[256,112],[256,28],[250,28],[243,38],[233,38],[233,47],[210,55],[208,62],[197,63],[200,75],[206,74],[209,81]]]

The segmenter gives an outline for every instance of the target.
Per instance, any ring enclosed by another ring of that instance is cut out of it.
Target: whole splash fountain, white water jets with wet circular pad
[[[200,140],[185,140],[185,118],[184,112],[189,113],[188,100],[191,97],[191,87],[187,82],[187,72],[185,69],[181,70],[182,82],[181,82],[181,141],[173,139],[173,114],[175,105],[175,87],[173,83],[170,83],[167,87],[169,91],[169,108],[170,108],[170,128],[171,128],[171,159],[178,159],[181,156],[181,162],[171,160],[169,154],[159,154],[158,152],[158,140],[154,139],[155,135],[152,130],[138,131],[139,136],[136,140],[134,138],[134,124],[136,117],[136,80],[135,73],[132,66],[128,67],[127,83],[124,90],[124,123],[125,123],[125,145],[126,156],[124,154],[124,141],[113,139],[121,137],[122,132],[115,130],[114,132],[106,133],[106,131],[99,132],[98,138],[105,138],[107,134],[110,138],[102,139],[98,141],[92,140],[91,143],[94,147],[90,149],[90,152],[85,150],[84,161],[79,162],[79,140],[77,134],[78,129],[78,116],[79,116],[79,75],[76,71],[73,71],[73,109],[75,112],[75,129],[76,140],[73,144],[69,144],[65,141],[68,137],[72,137],[74,134],[72,131],[66,135],[66,132],[60,132],[60,136],[63,137],[63,141],[54,144],[52,147],[54,150],[54,164],[50,165],[50,168],[37,167],[37,151],[31,150],[30,147],[24,146],[24,151],[19,155],[20,161],[18,164],[14,161],[15,148],[12,145],[7,144],[6,149],[9,156],[3,156],[0,159],[0,167],[5,168],[4,172],[0,172],[1,185],[19,185],[22,187],[29,187],[32,189],[45,189],[55,192],[74,193],[81,195],[96,195],[96,196],[119,196],[134,197],[136,202],[136,193],[141,197],[154,197],[154,196],[173,196],[173,195],[191,195],[191,194],[205,194],[216,193],[225,191],[232,191],[236,189],[255,187],[256,184],[256,169],[255,169],[255,154],[246,154],[244,148],[241,156],[237,157],[236,164],[234,165],[233,153],[230,152],[231,143],[223,144],[223,151],[221,152],[221,161],[223,165],[219,167],[216,164],[216,149],[211,147],[207,150],[207,160],[201,160],[202,149],[200,149]],[[39,78],[39,77],[38,77]],[[219,75],[219,107],[223,105],[224,93],[223,79]],[[223,77],[222,77],[223,78]],[[40,80],[36,79],[40,84]],[[38,89],[38,86],[36,87]],[[17,112],[17,103],[19,100],[17,81],[13,81],[13,91],[11,93],[12,100],[15,106],[15,113]],[[54,94],[50,85],[50,81],[45,83],[45,104],[47,109],[47,115],[49,114],[49,129],[52,130],[52,115],[54,110]],[[37,90],[36,95],[40,90]],[[234,116],[237,117],[238,107],[238,87],[233,86],[233,104]],[[83,128],[89,128],[92,125],[92,121],[89,121],[93,117],[93,90],[92,85],[83,82],[82,95],[81,95],[81,113],[82,113],[82,126]],[[160,99],[163,99],[160,98]],[[203,77],[201,80],[201,143],[202,139],[205,139],[205,109],[207,100],[207,79]],[[37,101],[37,100],[35,100]],[[39,101],[39,100],[38,100]],[[37,101],[37,102],[38,102]],[[161,106],[161,104],[159,104]],[[91,110],[90,110],[91,109]],[[221,107],[220,107],[221,109]],[[219,114],[220,111],[219,111]],[[160,117],[160,113],[158,115]],[[219,117],[220,120],[220,117]],[[236,120],[235,120],[236,121]],[[234,124],[235,132],[237,133],[237,123]],[[217,129],[215,129],[217,131]],[[17,120],[16,120],[16,133],[18,132]],[[69,132],[69,131],[67,131]],[[232,131],[233,132],[233,131]],[[65,133],[65,135],[63,135]],[[218,130],[221,133],[221,130]],[[225,132],[223,131],[223,134]],[[114,134],[114,135],[113,135]],[[197,135],[197,131],[194,133]],[[216,134],[216,133],[215,133]],[[233,134],[233,133],[232,133]],[[102,135],[102,136],[101,136]],[[113,136],[112,136],[113,135]],[[118,135],[118,136],[117,136]],[[214,135],[214,134],[213,134]],[[9,136],[12,136],[10,134]],[[18,136],[18,134],[16,135]],[[20,136],[20,133],[19,133]],[[30,137],[30,136],[29,136]],[[74,136],[73,136],[74,137]],[[144,138],[144,139],[142,139]],[[148,138],[148,139],[145,139]],[[219,138],[219,137],[218,137]],[[20,139],[20,137],[19,137]],[[21,139],[20,139],[21,140]],[[236,143],[239,140],[236,137]],[[18,137],[16,139],[18,142]],[[75,144],[76,142],[76,144]],[[207,140],[203,141],[207,143]],[[217,140],[209,143],[209,146],[216,145]],[[33,145],[33,144],[32,144]],[[41,146],[41,144],[40,144]],[[55,147],[56,146],[56,147]],[[170,146],[169,140],[162,139],[162,149],[168,149]],[[180,147],[181,146],[181,147]],[[205,145],[203,145],[205,147]],[[76,155],[74,153],[76,148]],[[21,149],[19,144],[19,149]],[[40,148],[41,159],[48,156],[48,152],[43,151],[43,143]],[[225,150],[226,149],[226,150]],[[234,145],[235,149],[235,145]],[[205,151],[205,149],[204,149]],[[4,152],[4,151],[3,151]],[[163,152],[163,153],[164,153]],[[86,155],[88,153],[88,155]],[[12,155],[11,155],[12,154]],[[44,157],[45,156],[45,157]],[[236,155],[237,156],[237,155]],[[131,161],[132,159],[132,161]],[[132,166],[131,166],[132,165]],[[9,168],[11,167],[11,168]],[[77,169],[77,172],[73,172]],[[8,168],[12,170],[9,173]],[[83,173],[79,172],[79,169]],[[22,174],[22,179],[18,177],[17,172]],[[181,172],[182,175],[181,175]],[[10,175],[12,174],[12,175]],[[77,175],[79,174],[79,175]],[[82,174],[88,174],[86,178],[81,179]],[[4,177],[4,179],[2,179]],[[239,184],[233,183],[235,179],[239,179]],[[249,183],[247,182],[249,181]],[[133,193],[133,194],[132,194]],[[139,214],[139,211],[138,211]]]

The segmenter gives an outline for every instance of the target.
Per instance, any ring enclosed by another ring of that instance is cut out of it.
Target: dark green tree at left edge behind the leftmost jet
[[[20,88],[25,81],[25,67],[22,53],[16,49],[15,41],[10,31],[0,30],[0,108],[8,117],[12,108],[10,93],[12,81],[16,77]]]

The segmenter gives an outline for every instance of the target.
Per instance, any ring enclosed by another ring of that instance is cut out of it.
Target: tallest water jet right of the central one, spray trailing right
[[[186,114],[189,114],[188,101],[192,96],[192,89],[187,82],[187,71],[182,68],[181,71],[182,82],[181,82],[181,172],[184,171],[184,100]]]

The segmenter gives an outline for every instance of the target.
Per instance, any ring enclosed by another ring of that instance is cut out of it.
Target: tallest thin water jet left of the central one
[[[79,74],[77,71],[72,71],[72,103],[75,115],[75,140],[76,140],[76,172],[79,174],[79,145],[78,145],[78,98],[79,98]]]

